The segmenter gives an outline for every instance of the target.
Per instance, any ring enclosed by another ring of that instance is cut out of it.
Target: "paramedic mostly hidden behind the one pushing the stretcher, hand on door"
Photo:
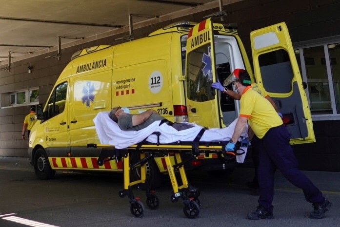
[[[234,77],[235,76],[238,77],[240,73],[247,73],[247,72],[243,69],[235,69],[234,72],[233,72]],[[249,76],[249,81],[250,81],[250,76]],[[251,83],[250,85],[251,85],[253,90],[255,90],[260,95],[265,97],[273,105],[276,112],[278,112],[278,114],[282,118],[282,114],[278,111],[278,108],[277,108],[274,100],[269,96],[269,94],[266,92],[266,90],[264,90],[264,88],[257,83]],[[211,87],[220,90],[221,93],[224,93],[224,94],[232,97],[233,99],[240,100],[240,98],[241,98],[240,94],[222,86],[219,81],[212,83]],[[259,182],[258,182],[259,150],[258,150],[258,146],[257,146],[258,142],[259,142],[259,138],[256,135],[254,135],[252,140],[251,140],[251,143],[252,143],[252,153],[251,154],[252,154],[252,159],[253,159],[253,163],[254,163],[254,178],[253,178],[252,181],[247,182],[247,186],[250,189],[254,189],[254,191],[251,192],[252,195],[258,195],[258,189],[259,189]]]

